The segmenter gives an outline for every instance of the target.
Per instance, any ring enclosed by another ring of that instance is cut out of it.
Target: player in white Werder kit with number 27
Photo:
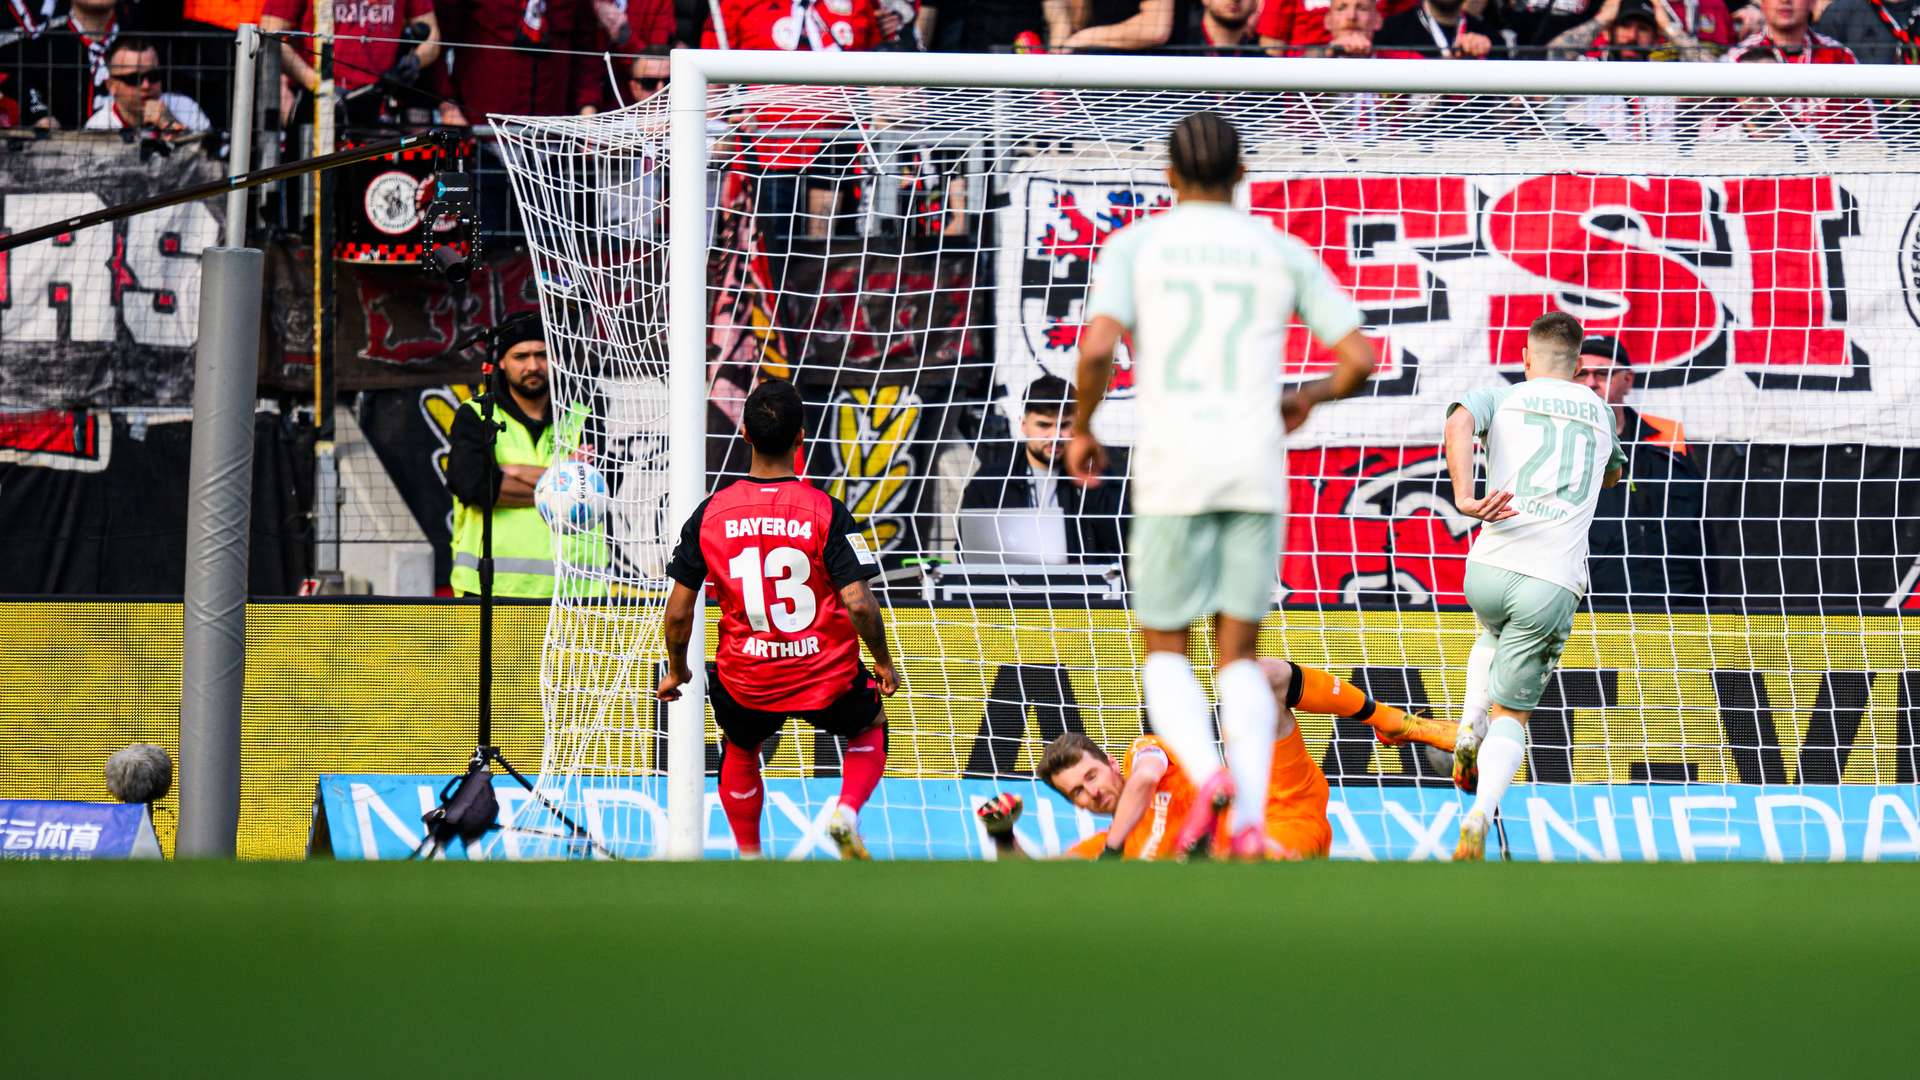
[[[1146,638],[1140,686],[1148,723],[1200,786],[1175,846],[1208,844],[1233,803],[1233,851],[1258,859],[1279,711],[1254,638],[1279,567],[1283,407],[1290,430],[1315,404],[1357,392],[1373,373],[1373,344],[1359,332],[1359,307],[1304,244],[1233,206],[1246,169],[1225,117],[1202,111],[1173,125],[1167,161],[1177,206],[1116,233],[1094,263],[1068,471],[1100,482],[1094,413],[1114,348],[1131,332],[1139,419],[1127,580]],[[1283,402],[1275,365],[1296,313],[1332,346],[1332,375]],[[1213,617],[1231,771],[1187,659],[1187,632],[1204,615]]]

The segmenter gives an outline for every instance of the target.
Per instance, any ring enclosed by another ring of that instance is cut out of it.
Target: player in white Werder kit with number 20
[[[1626,455],[1613,411],[1580,371],[1580,323],[1551,311],[1526,329],[1526,382],[1461,394],[1446,409],[1453,505],[1486,525],[1467,553],[1467,605],[1480,636],[1453,782],[1475,792],[1453,859],[1486,859],[1486,830],[1526,759],[1526,719],[1559,663],[1586,592],[1586,534],[1599,490]],[[1486,444],[1486,496],[1473,498],[1473,440]],[[1492,724],[1488,713],[1492,711]]]

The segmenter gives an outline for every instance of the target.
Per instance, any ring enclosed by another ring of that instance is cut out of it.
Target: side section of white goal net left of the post
[[[532,798],[486,844],[513,857],[643,857],[664,828],[653,701],[666,590],[664,113],[501,125],[551,357],[559,457],[591,463],[609,513],[555,544]],[[637,121],[637,123],[636,123]]]

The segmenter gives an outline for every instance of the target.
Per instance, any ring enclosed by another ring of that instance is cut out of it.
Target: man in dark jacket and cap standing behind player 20
[[[1599,494],[1590,536],[1588,596],[1601,605],[1692,609],[1707,601],[1707,484],[1680,421],[1626,404],[1632,357],[1619,338],[1580,344],[1576,380],[1613,407],[1626,450],[1624,482]]]

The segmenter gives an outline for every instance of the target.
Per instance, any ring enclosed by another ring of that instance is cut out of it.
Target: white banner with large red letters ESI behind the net
[[[1632,354],[1636,402],[1697,440],[1920,444],[1920,173],[1814,171],[1755,148],[1747,175],[1256,169],[1246,209],[1308,244],[1365,311],[1373,394],[1296,444],[1438,442],[1444,407],[1521,375],[1528,323],[1567,311]],[[996,382],[1071,379],[1092,263],[1169,206],[1158,171],[1033,158],[998,211]],[[1284,380],[1325,371],[1296,327]],[[1131,371],[1108,438],[1131,430]]]

